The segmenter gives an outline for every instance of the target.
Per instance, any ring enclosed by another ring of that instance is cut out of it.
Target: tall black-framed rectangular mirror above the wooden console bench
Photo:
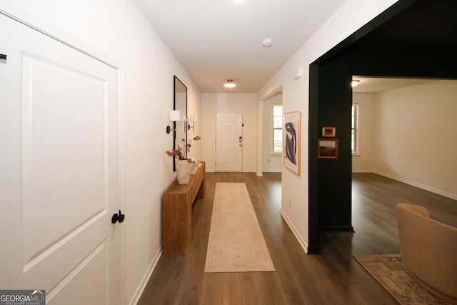
[[[174,110],[181,111],[181,120],[174,121],[174,136],[173,147],[175,149],[184,147],[187,143],[187,87],[174,76]],[[184,156],[187,158],[187,151],[184,151]],[[174,159],[173,170],[176,171],[176,159]]]

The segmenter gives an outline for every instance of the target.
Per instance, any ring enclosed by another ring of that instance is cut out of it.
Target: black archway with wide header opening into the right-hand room
[[[352,75],[456,79],[456,9],[452,0],[398,1],[310,65],[308,254],[319,251],[319,231],[353,230],[346,147]],[[340,154],[333,163],[317,156],[321,126],[337,129]]]

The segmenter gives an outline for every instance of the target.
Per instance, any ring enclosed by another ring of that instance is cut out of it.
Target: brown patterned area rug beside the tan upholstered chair
[[[419,285],[400,254],[354,255],[354,258],[400,304],[451,304]]]

